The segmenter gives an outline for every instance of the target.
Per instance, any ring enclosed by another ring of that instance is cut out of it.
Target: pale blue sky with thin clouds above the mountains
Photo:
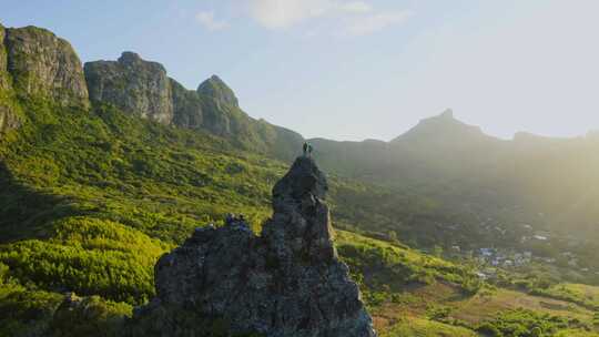
[[[491,135],[599,129],[597,0],[2,0],[85,61],[122,51],[306,137],[390,140],[450,108]]]

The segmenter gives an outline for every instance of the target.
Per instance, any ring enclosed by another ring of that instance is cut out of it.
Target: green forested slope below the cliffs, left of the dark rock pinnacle
[[[158,257],[194,227],[235,212],[258,229],[285,170],[221,139],[111,108],[18,103],[23,126],[0,144],[4,335],[81,336],[119,324],[153,296]],[[98,313],[73,335],[59,333],[72,317],[53,317],[64,292],[101,296],[85,304]]]

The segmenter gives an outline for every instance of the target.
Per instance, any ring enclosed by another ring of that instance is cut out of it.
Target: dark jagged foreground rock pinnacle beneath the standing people
[[[135,310],[132,335],[376,336],[337,258],[326,192],[302,156],[273,188],[262,235],[243,218],[197,228],[158,262],[156,297]]]

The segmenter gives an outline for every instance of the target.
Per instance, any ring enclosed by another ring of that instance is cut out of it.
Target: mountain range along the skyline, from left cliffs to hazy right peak
[[[197,90],[186,90],[160,63],[133,52],[82,67],[70,44],[47,30],[0,32],[0,88],[8,102],[27,92],[51,96],[62,105],[110,105],[164,125],[224,137],[238,149],[284,162],[295,157],[304,142],[296,132],[247,115],[216,75]],[[0,105],[0,130],[19,124],[19,108]],[[309,142],[326,171],[415,190],[445,213],[499,217],[510,223],[507,226],[530,223],[556,231],[567,226],[564,232],[571,235],[597,238],[599,139],[592,133],[575,139],[518,133],[505,141],[456,120],[447,110],[390,142]],[[506,217],[506,210],[518,216]]]

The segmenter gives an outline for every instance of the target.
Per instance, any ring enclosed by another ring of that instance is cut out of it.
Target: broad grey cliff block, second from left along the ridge
[[[171,82],[162,64],[142,60],[133,52],[123,52],[118,61],[87,62],[84,72],[92,101],[171,124]]]

